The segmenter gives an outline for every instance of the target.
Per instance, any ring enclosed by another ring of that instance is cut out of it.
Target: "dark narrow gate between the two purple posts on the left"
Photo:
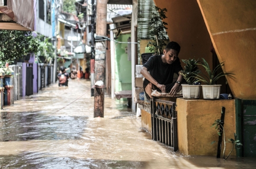
[[[27,64],[26,70],[26,95],[33,94],[33,64]]]

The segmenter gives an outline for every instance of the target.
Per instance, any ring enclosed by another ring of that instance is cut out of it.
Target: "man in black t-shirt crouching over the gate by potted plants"
[[[179,72],[183,68],[178,58],[180,49],[177,42],[169,42],[163,55],[151,56],[141,68],[140,73],[145,77],[143,88],[147,100],[152,98],[152,89],[170,93],[171,96],[175,96],[181,90],[179,86],[183,81],[183,76]],[[176,82],[173,82],[174,73],[178,75]]]

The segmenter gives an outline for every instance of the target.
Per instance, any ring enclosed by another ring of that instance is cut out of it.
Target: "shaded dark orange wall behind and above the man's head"
[[[212,67],[211,40],[196,0],[154,0],[166,8],[165,22],[170,41],[181,46],[180,59],[204,58]],[[182,61],[181,61],[182,62]],[[182,62],[182,67],[185,64]]]

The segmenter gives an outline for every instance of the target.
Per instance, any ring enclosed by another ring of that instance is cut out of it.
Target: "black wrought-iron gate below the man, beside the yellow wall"
[[[152,139],[174,147],[178,150],[176,102],[152,98],[150,113]]]

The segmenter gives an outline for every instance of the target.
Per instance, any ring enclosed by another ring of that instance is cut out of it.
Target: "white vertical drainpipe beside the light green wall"
[[[114,33],[110,30],[110,39],[114,39]],[[110,55],[111,55],[111,98],[115,97],[115,44],[110,41]]]

